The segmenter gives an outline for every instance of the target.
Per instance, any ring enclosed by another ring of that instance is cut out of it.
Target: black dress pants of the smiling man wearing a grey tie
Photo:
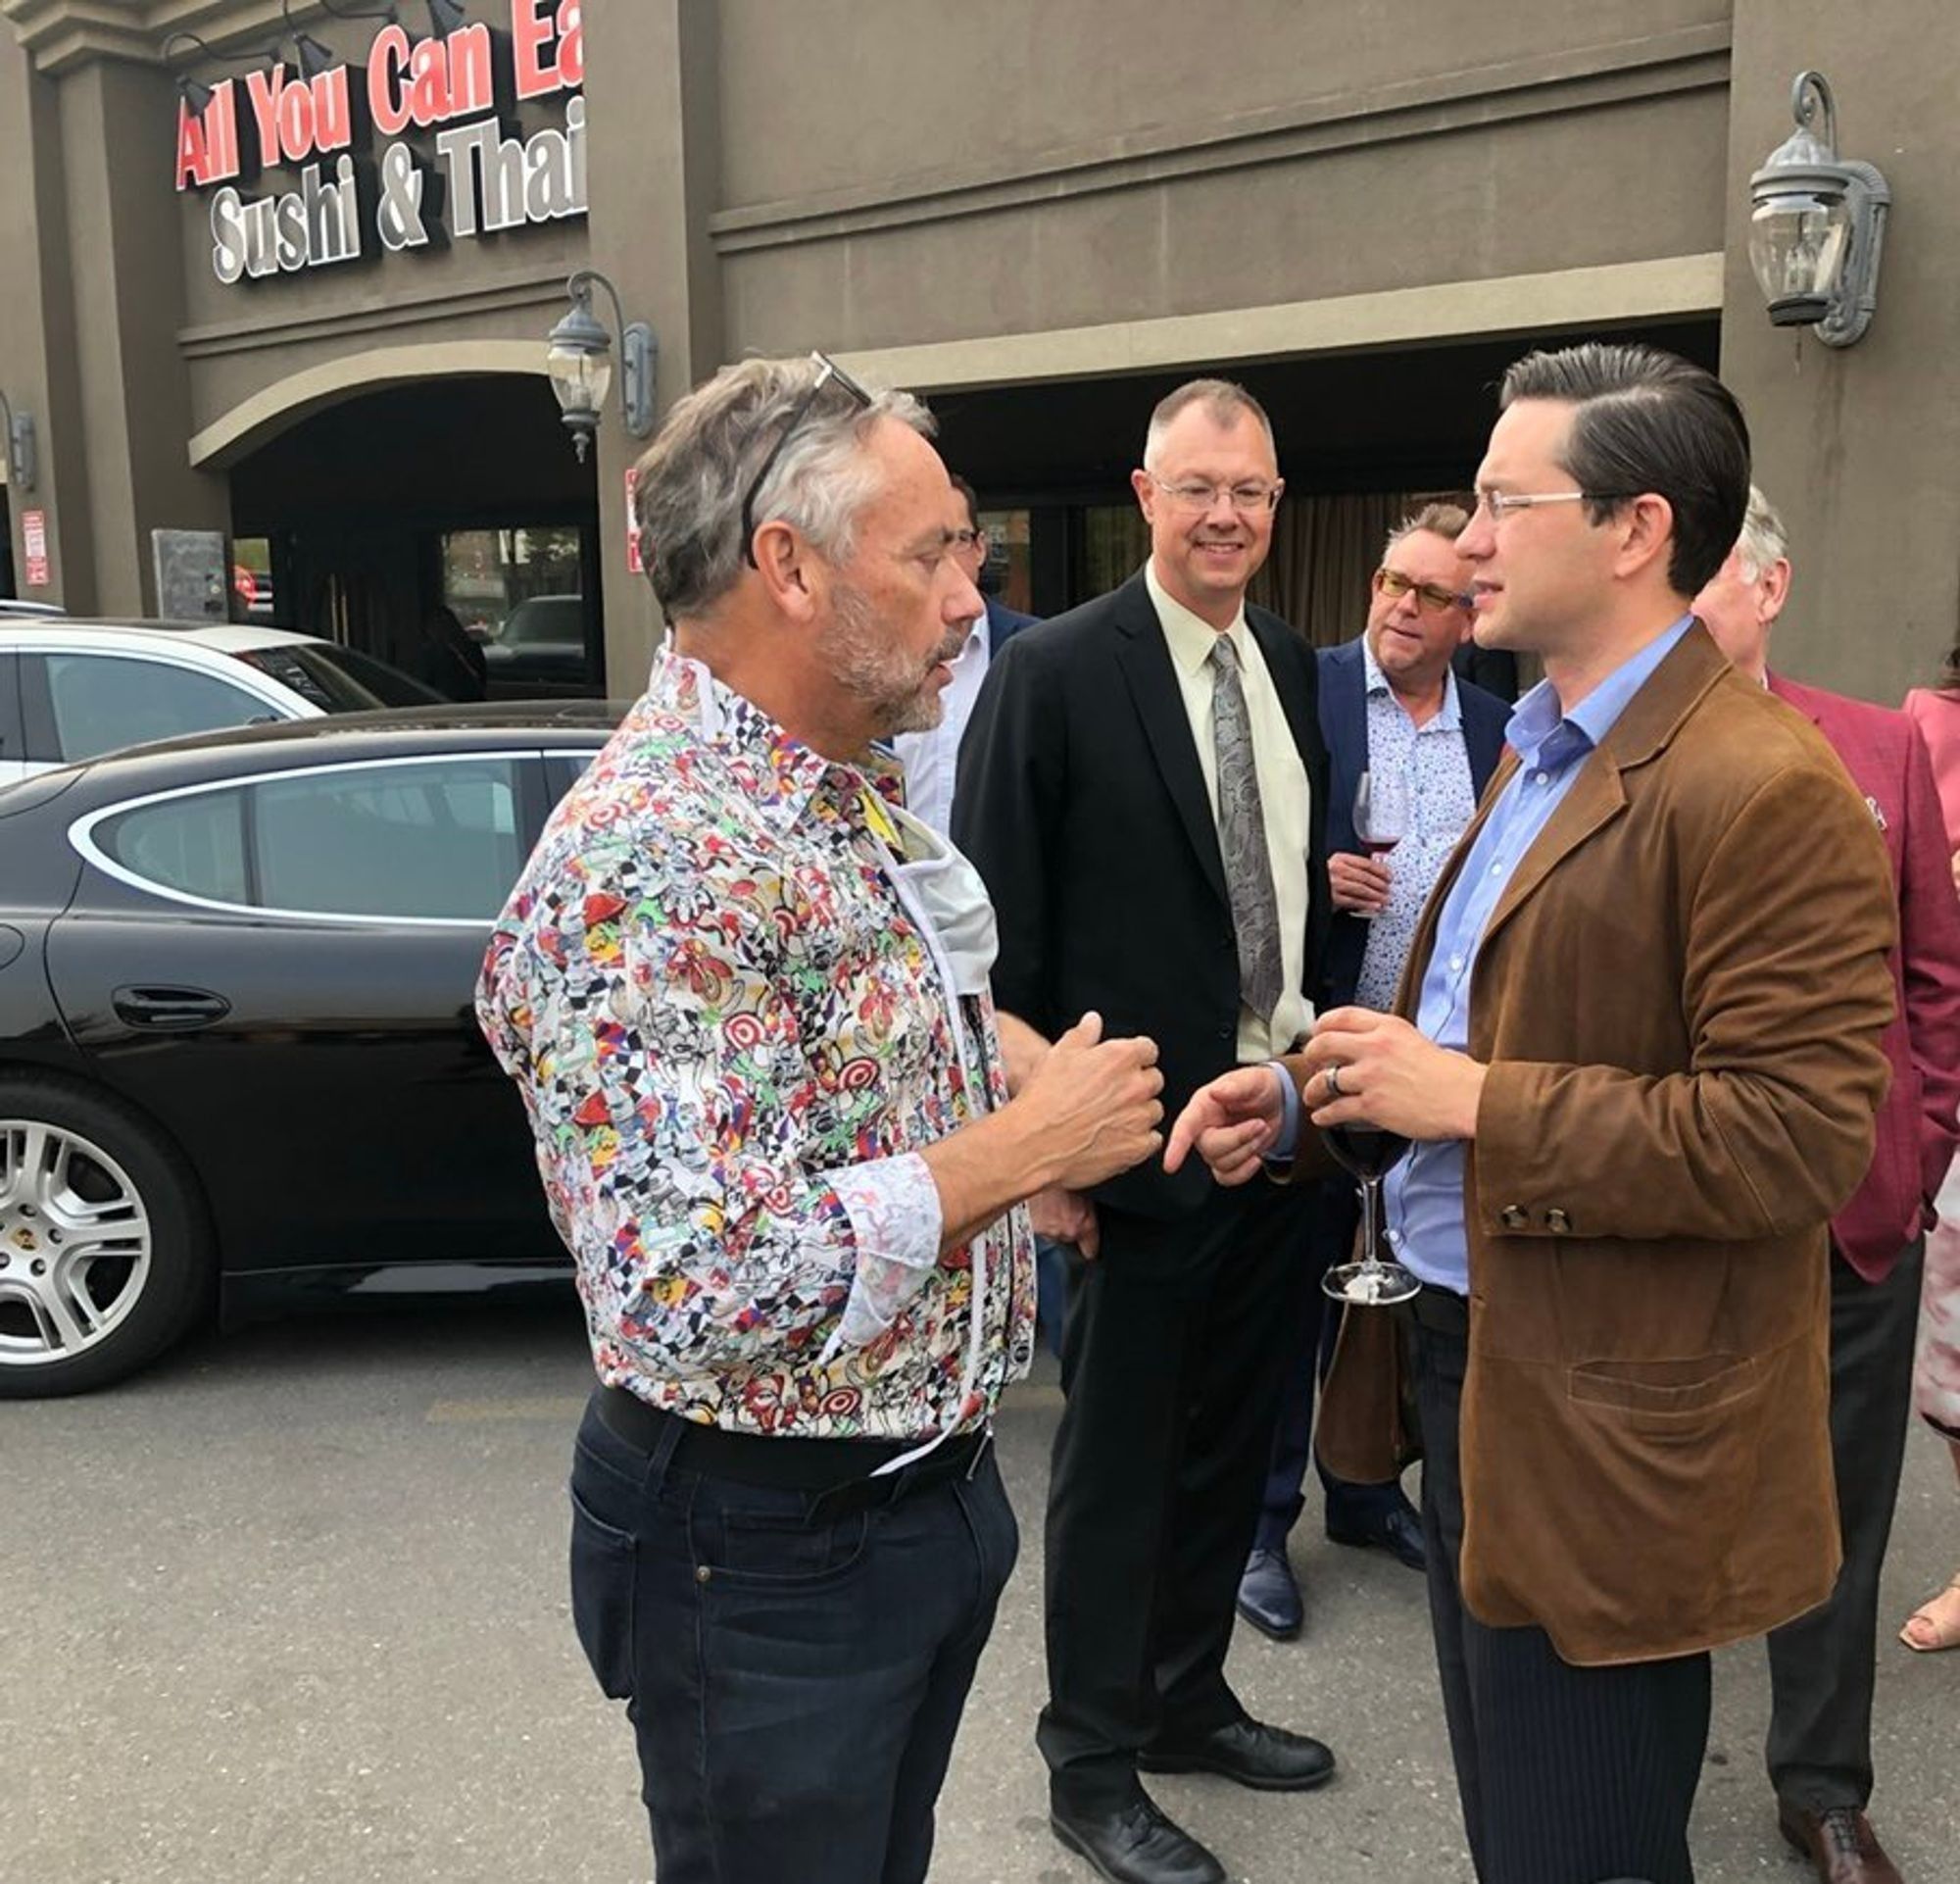
[[[1313,1186],[1254,1178],[1174,1221],[1105,1210],[1074,1266],[1047,1521],[1056,1802],[1117,1806],[1137,1751],[1239,1719],[1225,1682]]]

